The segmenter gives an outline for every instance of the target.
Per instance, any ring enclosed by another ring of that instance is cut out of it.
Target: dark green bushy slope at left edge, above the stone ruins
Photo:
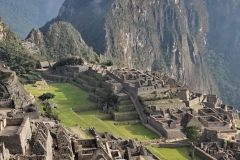
[[[0,20],[3,27],[3,39],[0,40],[0,61],[17,74],[34,70],[37,64],[37,56],[30,53],[21,45],[21,40]]]

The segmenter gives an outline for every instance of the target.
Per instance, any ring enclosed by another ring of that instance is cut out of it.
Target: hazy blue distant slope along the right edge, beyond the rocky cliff
[[[207,49],[215,83],[223,101],[240,108],[240,0],[205,0],[210,30]]]

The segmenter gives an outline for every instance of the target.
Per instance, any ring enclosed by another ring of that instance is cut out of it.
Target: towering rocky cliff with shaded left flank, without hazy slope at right
[[[105,41],[91,39],[88,44],[106,48],[103,57],[119,66],[168,72],[194,90],[207,91],[211,78],[202,59],[209,30],[207,8],[203,0],[190,2],[66,0],[57,19],[71,22],[86,43],[89,34]]]

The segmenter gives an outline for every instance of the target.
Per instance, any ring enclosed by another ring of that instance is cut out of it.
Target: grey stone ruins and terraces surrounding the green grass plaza
[[[24,88],[19,91],[23,85],[17,76],[2,66],[0,158],[4,160],[159,159],[146,145],[190,146],[199,157],[209,160],[240,157],[239,112],[223,104],[217,95],[194,93],[165,73],[96,64],[50,67],[40,73],[45,86],[53,82],[69,83],[89,93],[88,99],[95,105],[71,108],[75,113],[100,109],[105,113],[100,119],[113,120],[115,126],[142,124],[158,138],[123,139],[101,133],[94,126],[89,129],[80,126],[92,135],[83,138],[60,121],[40,113],[33,104],[34,96]],[[198,141],[192,143],[183,134],[182,129],[188,126],[199,128]]]

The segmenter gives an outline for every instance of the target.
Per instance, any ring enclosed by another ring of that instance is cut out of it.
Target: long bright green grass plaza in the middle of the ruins
[[[139,141],[151,140],[158,136],[141,124],[115,126],[113,120],[100,120],[99,117],[108,115],[101,110],[90,110],[75,113],[71,108],[86,108],[97,104],[88,99],[86,92],[69,83],[50,83],[37,81],[36,84],[28,84],[25,88],[35,97],[50,92],[56,96],[49,100],[57,104],[54,109],[59,114],[61,122],[70,130],[85,138],[91,137],[89,127],[95,127],[100,132],[109,132],[122,138],[137,138]],[[41,108],[43,105],[36,99],[36,104]],[[42,110],[42,109],[41,109]]]

